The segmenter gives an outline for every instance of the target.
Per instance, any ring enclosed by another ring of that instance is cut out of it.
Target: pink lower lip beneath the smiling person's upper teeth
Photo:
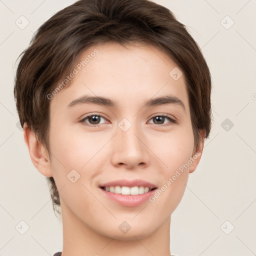
[[[130,206],[130,207],[138,206],[138,205],[142,204],[143,202],[148,200],[148,198],[151,195],[153,195],[156,191],[156,189],[153,189],[153,190],[151,190],[147,193],[143,193],[143,194],[137,194],[137,195],[127,194],[126,195],[126,194],[112,193],[112,192],[106,191],[100,187],[99,187],[99,189],[103,192],[103,194],[105,196],[114,200],[118,204],[123,205],[123,206]]]

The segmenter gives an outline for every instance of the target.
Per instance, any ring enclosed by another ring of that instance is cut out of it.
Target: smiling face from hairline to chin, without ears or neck
[[[166,223],[199,159],[184,75],[164,52],[138,44],[97,44],[77,64],[50,99],[48,168],[62,218],[107,237],[146,237]]]

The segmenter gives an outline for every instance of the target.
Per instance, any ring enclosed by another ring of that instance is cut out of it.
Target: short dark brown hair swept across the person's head
[[[149,0],[79,0],[44,22],[22,55],[14,97],[20,124],[33,130],[49,152],[49,99],[56,82],[70,73],[81,52],[107,41],[146,42],[172,58],[182,70],[188,92],[194,148],[199,130],[211,127],[211,77],[200,48],[173,13]],[[50,156],[50,154],[49,154]],[[46,177],[53,209],[60,206],[53,177]]]

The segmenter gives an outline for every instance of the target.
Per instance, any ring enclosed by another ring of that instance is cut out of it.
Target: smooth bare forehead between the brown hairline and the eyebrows
[[[184,75],[174,79],[172,70],[182,74],[165,52],[152,45],[95,44],[80,54],[72,70],[73,78],[53,97],[51,104],[63,108],[82,95],[91,95],[111,98],[120,107],[121,103],[136,104],[135,100],[144,102],[171,94],[188,108]]]

